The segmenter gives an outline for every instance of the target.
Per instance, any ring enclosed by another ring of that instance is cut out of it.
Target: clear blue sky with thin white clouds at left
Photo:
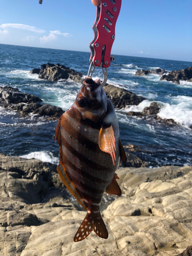
[[[0,0],[0,44],[90,52],[95,16],[91,0]],[[192,61],[192,1],[122,0],[115,36],[112,54]]]

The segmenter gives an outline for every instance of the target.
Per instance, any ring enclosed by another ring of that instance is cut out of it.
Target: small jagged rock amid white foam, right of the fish
[[[151,122],[157,122],[165,125],[176,125],[177,123],[174,121],[174,119],[163,119],[159,117],[157,114],[159,113],[161,109],[161,105],[159,105],[157,102],[152,102],[150,106],[146,106],[142,112],[134,112],[130,111],[127,113],[128,116],[136,116],[139,118],[142,118],[146,120],[148,123]]]

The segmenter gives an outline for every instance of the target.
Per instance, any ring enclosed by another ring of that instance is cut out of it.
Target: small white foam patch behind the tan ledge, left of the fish
[[[48,151],[31,152],[27,155],[22,155],[20,157],[27,158],[27,159],[35,158],[43,162],[49,162],[54,164],[59,163],[59,158],[54,157],[53,154]]]

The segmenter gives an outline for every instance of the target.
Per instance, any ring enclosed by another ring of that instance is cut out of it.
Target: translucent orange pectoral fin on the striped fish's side
[[[99,132],[99,148],[103,152],[109,153],[112,157],[113,164],[115,165],[115,136],[112,125],[106,129],[102,128]]]

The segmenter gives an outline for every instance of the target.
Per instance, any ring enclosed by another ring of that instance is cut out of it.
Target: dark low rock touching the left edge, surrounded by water
[[[39,102],[42,101],[38,97],[28,94],[28,93],[21,93],[16,88],[11,87],[1,87],[0,88],[0,102],[5,102],[8,104],[18,104],[20,102],[24,103],[31,103],[31,102]]]

